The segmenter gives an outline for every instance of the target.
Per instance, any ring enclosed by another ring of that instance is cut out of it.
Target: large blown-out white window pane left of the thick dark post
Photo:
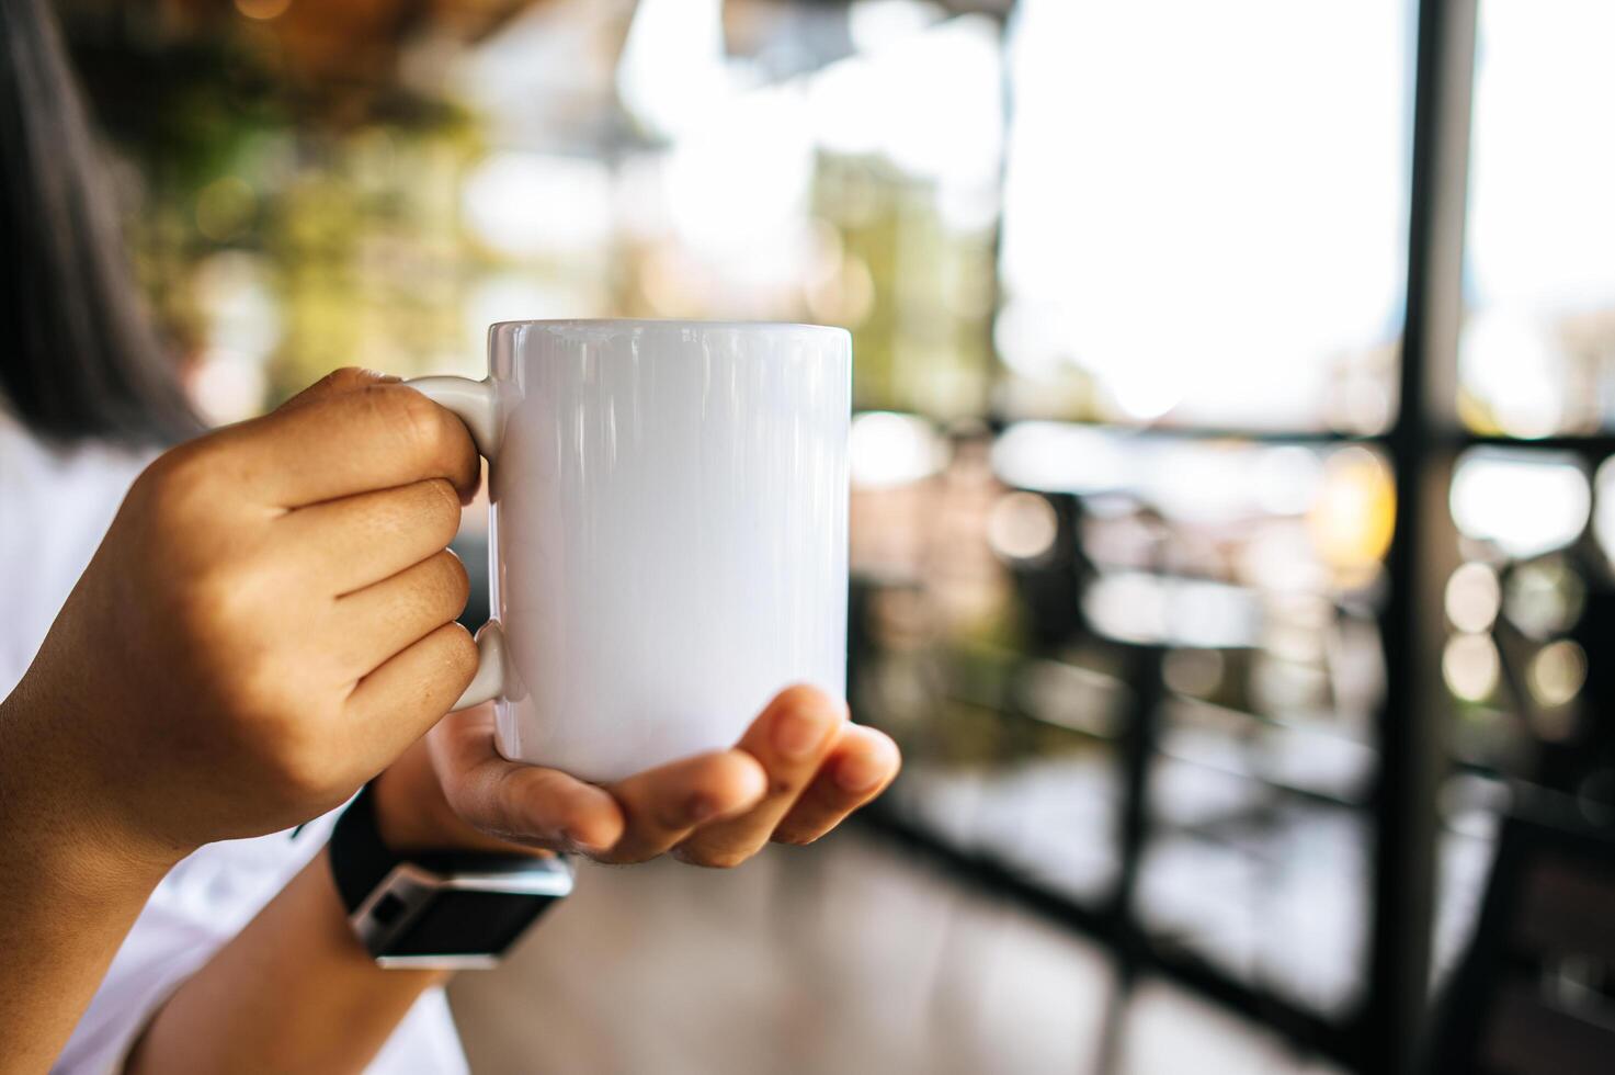
[[[1026,0],[1003,275],[1108,414],[1324,424],[1400,333],[1403,0]],[[1011,367],[1022,365],[1006,354]]]

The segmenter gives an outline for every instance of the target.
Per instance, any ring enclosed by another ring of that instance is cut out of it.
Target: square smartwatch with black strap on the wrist
[[[381,967],[476,970],[572,892],[565,857],[392,854],[367,784],[336,820],[331,875],[347,920]]]

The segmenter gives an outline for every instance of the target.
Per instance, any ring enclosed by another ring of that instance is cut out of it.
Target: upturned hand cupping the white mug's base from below
[[[397,850],[575,850],[627,863],[665,852],[736,866],[769,841],[809,844],[879,795],[896,744],[851,724],[811,687],[780,693],[730,750],[599,787],[494,752],[493,706],[451,713],[376,784],[383,837]]]

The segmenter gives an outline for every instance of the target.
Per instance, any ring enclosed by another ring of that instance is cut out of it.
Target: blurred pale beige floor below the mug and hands
[[[586,868],[452,999],[480,1075],[1087,1073],[1111,975],[1092,944],[849,833],[732,873]],[[1164,984],[1124,1027],[1129,1075],[1324,1070]]]

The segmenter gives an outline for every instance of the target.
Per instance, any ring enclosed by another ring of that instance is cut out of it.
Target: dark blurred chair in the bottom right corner
[[[1433,1075],[1615,1070],[1615,833],[1508,818]]]

